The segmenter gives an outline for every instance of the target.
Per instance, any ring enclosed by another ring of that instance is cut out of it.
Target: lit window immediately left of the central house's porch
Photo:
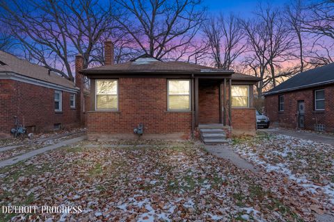
[[[168,110],[190,110],[190,80],[168,80]]]

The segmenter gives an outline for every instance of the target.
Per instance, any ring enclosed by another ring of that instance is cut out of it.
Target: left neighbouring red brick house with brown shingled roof
[[[0,137],[10,135],[15,117],[28,132],[81,126],[80,94],[72,81],[0,51]]]

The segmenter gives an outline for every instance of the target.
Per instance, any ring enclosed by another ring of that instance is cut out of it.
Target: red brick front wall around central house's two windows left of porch
[[[191,112],[166,112],[166,78],[120,78],[119,112],[88,112],[88,137],[102,134],[134,136],[143,123],[144,134],[191,134]]]

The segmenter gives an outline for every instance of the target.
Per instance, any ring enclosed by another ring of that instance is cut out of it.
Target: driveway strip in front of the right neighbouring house
[[[258,129],[258,131],[272,133],[275,135],[287,135],[301,139],[308,139],[314,142],[321,142],[334,146],[334,137],[330,135],[321,135],[319,133],[306,132],[302,130],[289,130],[287,128]]]

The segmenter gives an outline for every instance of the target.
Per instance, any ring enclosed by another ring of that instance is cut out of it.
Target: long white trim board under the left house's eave
[[[16,80],[22,83],[29,83],[29,84],[33,84],[33,85],[38,85],[38,86],[42,86],[42,87],[47,87],[50,89],[57,89],[57,90],[61,90],[64,92],[72,92],[74,94],[77,94],[79,92],[79,88],[78,89],[72,89],[70,87],[65,87],[63,85],[58,85],[55,83],[49,83],[49,82],[45,82],[42,80],[38,80],[35,78],[31,78],[28,76],[22,76],[19,74],[15,74],[15,73],[11,73],[11,72],[0,72],[0,80],[1,79],[8,79],[8,80]]]

